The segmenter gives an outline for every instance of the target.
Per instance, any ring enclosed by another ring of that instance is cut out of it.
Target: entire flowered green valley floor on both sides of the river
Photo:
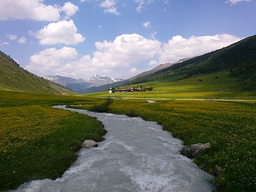
[[[211,143],[195,163],[212,175],[216,174],[214,167],[220,167],[216,175],[218,189],[256,191],[254,92],[187,92],[173,97],[169,92],[162,99],[157,91],[148,92],[150,97],[144,93],[118,94],[122,97],[111,95],[116,99],[109,106],[109,113],[156,121],[182,139],[184,145]],[[75,152],[83,140],[102,140],[105,131],[100,122],[51,106],[77,104],[72,108],[92,109],[95,104],[104,103],[105,95],[109,94],[68,97],[0,92],[0,189],[16,188],[31,179],[59,177],[76,159]],[[205,100],[209,98],[230,100]],[[157,102],[148,103],[148,99]]]

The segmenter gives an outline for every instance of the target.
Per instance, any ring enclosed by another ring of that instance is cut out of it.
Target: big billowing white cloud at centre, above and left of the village
[[[116,66],[154,58],[160,50],[161,42],[138,34],[124,34],[116,36],[113,42],[96,42],[95,47],[98,51],[94,52],[94,58],[99,63]]]

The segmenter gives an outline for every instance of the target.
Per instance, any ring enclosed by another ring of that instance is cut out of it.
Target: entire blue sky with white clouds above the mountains
[[[0,50],[38,76],[127,79],[256,32],[256,0],[0,0]]]

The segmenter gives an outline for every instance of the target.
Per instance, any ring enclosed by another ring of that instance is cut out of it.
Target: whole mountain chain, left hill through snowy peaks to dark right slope
[[[4,52],[0,52],[0,90],[70,95],[74,92],[102,92],[110,86],[132,86],[159,81],[179,82],[182,79],[220,72],[227,72],[225,82],[230,79],[232,83],[232,88],[228,90],[256,91],[256,35],[201,56],[185,58],[175,63],[164,63],[126,80],[99,75],[88,79],[38,77],[21,68]]]

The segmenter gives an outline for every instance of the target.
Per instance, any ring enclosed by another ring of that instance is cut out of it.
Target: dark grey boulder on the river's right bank
[[[181,154],[183,156],[189,157],[189,159],[193,159],[199,154],[201,154],[206,148],[210,148],[210,143],[196,143],[193,145],[188,145],[182,148]]]

